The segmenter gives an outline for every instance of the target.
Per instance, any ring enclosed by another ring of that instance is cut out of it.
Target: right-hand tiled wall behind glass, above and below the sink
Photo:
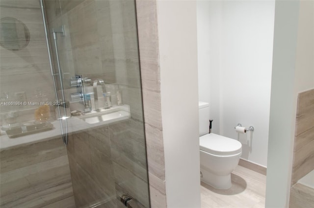
[[[134,1],[45,1],[50,29],[58,35],[61,68],[117,83],[131,119],[70,135],[68,156],[77,207],[120,207],[129,193],[149,207],[145,137]],[[53,49],[54,50],[54,49]]]

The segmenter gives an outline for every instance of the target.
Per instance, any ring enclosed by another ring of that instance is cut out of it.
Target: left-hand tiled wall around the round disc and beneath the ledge
[[[22,21],[30,33],[26,48],[9,51],[0,47],[0,95],[15,101],[16,92],[25,92],[28,102],[54,100],[52,76],[38,0],[1,0],[0,17]],[[38,90],[46,98],[38,98]],[[1,100],[3,101],[3,100]],[[32,106],[1,106],[1,126],[6,113],[17,111],[17,121],[34,120]],[[66,149],[61,138],[0,152],[0,207],[73,207],[73,190]]]

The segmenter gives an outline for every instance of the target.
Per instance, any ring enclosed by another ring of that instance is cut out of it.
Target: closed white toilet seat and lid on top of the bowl
[[[235,155],[242,151],[242,144],[218,134],[209,133],[200,137],[200,150],[218,156]]]

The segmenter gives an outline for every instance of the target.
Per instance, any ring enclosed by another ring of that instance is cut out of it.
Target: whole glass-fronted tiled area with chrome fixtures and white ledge
[[[134,0],[0,0],[0,207],[149,208]]]

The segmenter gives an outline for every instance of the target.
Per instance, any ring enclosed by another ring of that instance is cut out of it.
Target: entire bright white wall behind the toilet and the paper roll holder
[[[242,158],[267,165],[273,49],[272,1],[198,1],[199,97],[209,102],[213,132],[238,139],[254,126]],[[252,138],[251,138],[252,137]]]

